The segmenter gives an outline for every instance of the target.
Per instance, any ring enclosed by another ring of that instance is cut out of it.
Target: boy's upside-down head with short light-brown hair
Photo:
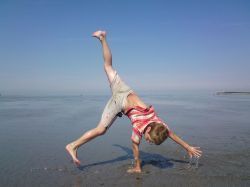
[[[152,122],[148,125],[148,127],[151,127],[149,135],[156,145],[160,145],[169,136],[167,127],[162,123]]]

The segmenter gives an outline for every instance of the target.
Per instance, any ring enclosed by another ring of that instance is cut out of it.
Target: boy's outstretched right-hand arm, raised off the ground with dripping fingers
[[[186,151],[188,152],[188,155],[190,157],[193,157],[193,156],[200,157],[201,156],[202,151],[200,150],[200,147],[192,147],[192,146],[188,145],[186,142],[184,142],[181,138],[179,138],[173,132],[171,132],[169,134],[169,137],[172,140],[174,140],[176,143],[178,143],[179,145],[181,145],[184,149],[186,149]]]

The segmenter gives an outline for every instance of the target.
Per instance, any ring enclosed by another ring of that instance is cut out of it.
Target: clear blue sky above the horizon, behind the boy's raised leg
[[[245,0],[1,0],[0,93],[108,92],[97,29],[135,90],[250,91]]]

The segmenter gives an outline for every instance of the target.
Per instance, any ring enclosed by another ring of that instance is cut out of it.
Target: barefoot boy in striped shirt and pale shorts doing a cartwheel
[[[200,157],[202,151],[199,147],[192,147],[175,135],[167,124],[156,115],[153,106],[147,106],[138,95],[121,80],[112,67],[112,54],[106,40],[106,32],[96,31],[92,36],[99,39],[102,45],[104,70],[112,90],[112,97],[105,106],[97,127],[87,131],[79,139],[66,146],[66,150],[72,157],[73,162],[76,165],[80,165],[80,161],[77,158],[78,148],[97,136],[103,135],[117,116],[122,116],[122,113],[130,118],[133,125],[131,140],[135,165],[132,169],[128,170],[129,173],[141,172],[139,144],[143,135],[147,142],[156,145],[160,145],[167,137],[170,137],[186,149],[190,157]]]

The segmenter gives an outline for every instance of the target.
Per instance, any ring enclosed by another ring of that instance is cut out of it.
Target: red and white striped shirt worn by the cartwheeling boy
[[[162,123],[169,130],[167,124],[157,116],[153,106],[149,106],[148,108],[135,106],[134,108],[130,108],[126,112],[126,115],[131,120],[133,126],[131,139],[135,143],[140,143],[146,127],[152,122]]]

